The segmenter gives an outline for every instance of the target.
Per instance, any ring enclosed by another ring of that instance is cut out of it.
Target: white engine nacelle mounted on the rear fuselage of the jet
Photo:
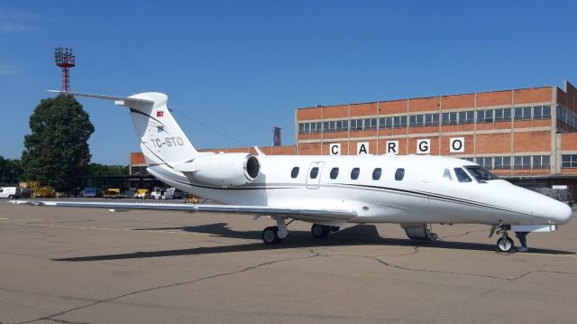
[[[261,174],[259,159],[247,153],[201,155],[189,164],[195,180],[221,187],[251,183]]]

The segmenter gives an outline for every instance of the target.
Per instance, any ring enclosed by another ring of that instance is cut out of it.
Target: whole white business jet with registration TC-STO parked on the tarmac
[[[59,91],[54,91],[59,92]],[[167,106],[168,97],[68,93],[130,108],[148,171],[169,186],[222,205],[86,201],[15,201],[39,206],[181,210],[269,216],[266,244],[289,235],[288,221],[312,223],[326,237],[348,223],[397,223],[411,239],[434,241],[431,224],[486,224],[509,252],[508,231],[553,231],[572,209],[500,180],[481,166],[442,156],[267,156],[199,153]]]

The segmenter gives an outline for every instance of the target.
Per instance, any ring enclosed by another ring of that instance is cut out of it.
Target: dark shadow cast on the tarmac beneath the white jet
[[[261,231],[234,231],[225,223],[216,223],[210,225],[202,225],[197,227],[162,227],[162,228],[140,228],[135,230],[183,230],[194,233],[210,234],[214,236],[223,236],[231,238],[242,239],[261,239]],[[181,255],[211,255],[221,253],[234,252],[250,252],[261,250],[274,249],[294,249],[307,248],[316,246],[351,246],[351,245],[390,245],[390,246],[427,246],[434,248],[454,249],[454,250],[475,250],[475,251],[495,251],[495,245],[471,243],[471,242],[419,242],[410,239],[387,238],[379,236],[376,227],[371,225],[357,225],[354,227],[344,228],[343,230],[331,234],[331,236],[318,239],[310,235],[309,232],[291,231],[289,238],[284,240],[279,245],[265,245],[262,242],[240,244],[240,245],[224,245],[224,246],[208,246],[195,247],[187,249],[163,250],[163,251],[147,251],[147,252],[133,252],[117,255],[86,255],[78,257],[54,258],[52,261],[67,261],[67,262],[87,262],[87,261],[105,261],[105,260],[124,260],[124,259],[140,259],[150,257],[165,257],[165,256],[181,256]],[[531,253],[547,254],[547,255],[575,255],[573,252],[531,248]]]

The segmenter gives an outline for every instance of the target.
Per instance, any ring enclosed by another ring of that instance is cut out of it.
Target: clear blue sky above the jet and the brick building
[[[164,92],[198,148],[265,146],[273,125],[294,143],[298,107],[577,83],[576,9],[570,1],[1,1],[0,155],[20,157],[34,107],[60,88],[57,46],[75,51],[73,91]],[[79,101],[96,127],[93,162],[127,164],[139,150],[128,113]]]

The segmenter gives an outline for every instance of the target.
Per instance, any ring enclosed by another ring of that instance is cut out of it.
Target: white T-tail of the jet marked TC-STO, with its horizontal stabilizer
[[[165,94],[144,92],[131,97],[113,97],[74,92],[61,93],[114,100],[117,106],[129,107],[134,130],[140,139],[142,153],[149,165],[173,166],[191,161],[198,155],[197,150],[170,113],[167,106],[169,97]]]

